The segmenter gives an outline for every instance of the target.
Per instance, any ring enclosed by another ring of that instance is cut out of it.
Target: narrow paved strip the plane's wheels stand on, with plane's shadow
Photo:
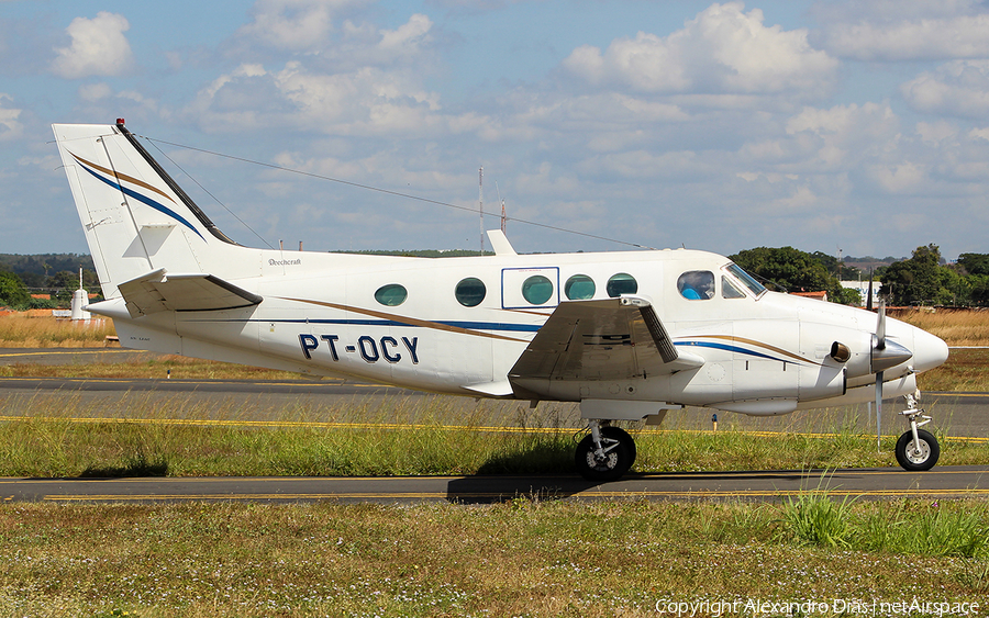
[[[569,476],[0,479],[4,501],[57,503],[318,502],[485,504],[540,499],[780,501],[808,490],[860,499],[989,496],[989,467],[630,474],[615,483]]]

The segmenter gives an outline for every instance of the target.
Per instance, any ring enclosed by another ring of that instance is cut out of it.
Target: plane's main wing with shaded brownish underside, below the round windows
[[[629,380],[701,367],[678,351],[648,299],[622,296],[560,303],[519,357],[509,378]]]

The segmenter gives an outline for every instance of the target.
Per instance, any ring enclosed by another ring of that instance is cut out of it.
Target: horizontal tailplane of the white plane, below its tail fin
[[[246,307],[262,296],[204,272],[169,274],[164,268],[118,285],[131,317],[159,311],[214,311]]]

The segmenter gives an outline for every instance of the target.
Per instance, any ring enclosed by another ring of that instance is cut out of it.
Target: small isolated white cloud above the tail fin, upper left
[[[131,44],[124,33],[131,24],[116,13],[101,11],[93,19],[76,18],[65,29],[71,45],[57,47],[52,72],[66,79],[113,76],[127,71],[134,64]]]

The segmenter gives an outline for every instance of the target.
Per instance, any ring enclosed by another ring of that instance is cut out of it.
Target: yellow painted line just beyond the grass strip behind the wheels
[[[190,425],[198,427],[280,427],[280,428],[310,428],[310,429],[368,429],[368,430],[395,430],[395,429],[432,429],[441,431],[477,431],[481,434],[576,434],[584,431],[584,427],[485,427],[473,425],[411,425],[403,423],[335,423],[320,420],[246,420],[223,418],[114,418],[114,417],[65,417],[65,416],[0,416],[0,422],[33,420],[37,423],[108,423],[120,425]],[[636,434],[666,434],[666,432],[711,434],[703,429],[641,429]],[[756,438],[773,438],[781,436],[803,436],[807,438],[834,439],[841,434],[799,434],[793,431],[732,431]],[[873,440],[874,436],[854,436],[860,439]],[[894,438],[896,436],[884,436]],[[948,441],[959,442],[989,442],[989,438],[952,436]]]

